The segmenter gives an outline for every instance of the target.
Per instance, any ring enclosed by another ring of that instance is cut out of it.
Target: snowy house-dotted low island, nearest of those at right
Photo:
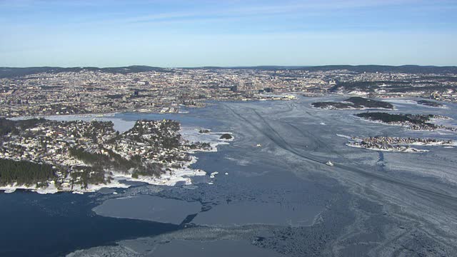
[[[402,138],[390,136],[373,136],[357,138],[352,137],[346,146],[366,148],[374,151],[395,151],[395,152],[424,152],[428,150],[413,148],[411,146],[454,146],[451,140],[436,138]]]

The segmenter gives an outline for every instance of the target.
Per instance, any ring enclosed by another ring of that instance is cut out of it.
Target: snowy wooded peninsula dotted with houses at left
[[[178,121],[136,121],[119,133],[111,121],[0,119],[0,189],[95,191],[121,179],[173,185],[205,175],[189,168],[209,143],[181,138]],[[124,186],[125,187],[125,186]]]

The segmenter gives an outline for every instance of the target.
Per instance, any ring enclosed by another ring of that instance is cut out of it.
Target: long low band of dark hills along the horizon
[[[236,66],[236,67],[218,67],[218,66],[203,66],[191,67],[180,69],[252,69],[259,71],[279,71],[279,70],[301,70],[301,71],[333,71],[345,69],[353,72],[404,72],[413,74],[457,74],[457,66],[416,66],[416,65],[403,65],[403,66],[382,66],[382,65],[327,65],[327,66]],[[102,71],[109,73],[129,74],[144,71],[173,71],[173,69],[165,69],[152,66],[124,66],[124,67],[29,67],[29,68],[0,68],[0,78],[11,78],[17,76],[38,74],[42,72],[59,73],[64,71]]]

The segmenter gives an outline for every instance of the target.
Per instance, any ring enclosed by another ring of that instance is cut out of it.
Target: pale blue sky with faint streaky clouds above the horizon
[[[457,0],[0,0],[0,66],[457,65]]]

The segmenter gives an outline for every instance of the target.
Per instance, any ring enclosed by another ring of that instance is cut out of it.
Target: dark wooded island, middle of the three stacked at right
[[[356,117],[378,122],[382,124],[405,126],[414,131],[435,131],[436,129],[446,129],[457,131],[456,128],[432,124],[433,119],[451,119],[447,116],[434,114],[388,114],[384,112],[366,112],[355,114]]]

